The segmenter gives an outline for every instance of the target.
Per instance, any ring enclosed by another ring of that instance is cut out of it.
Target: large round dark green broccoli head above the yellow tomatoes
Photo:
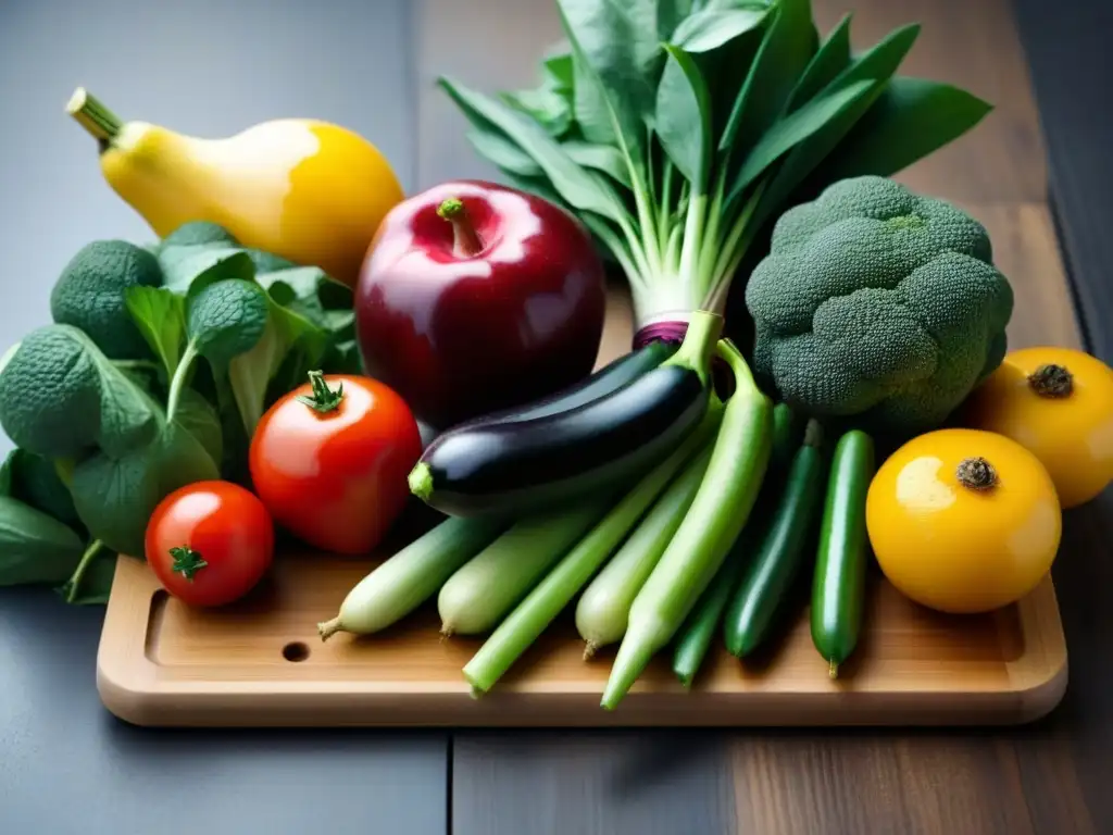
[[[746,305],[755,372],[782,399],[907,436],[1001,364],[1013,291],[974,218],[867,176],[778,220]]]

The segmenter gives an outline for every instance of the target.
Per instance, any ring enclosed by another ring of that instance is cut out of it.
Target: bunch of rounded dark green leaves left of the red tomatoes
[[[359,371],[352,294],[321,269],[187,224],[139,247],[95,242],[51,294],[53,324],[0,360],[0,586],[107,600],[111,552],[141,557],[156,504],[248,481],[275,397],[311,370]]]

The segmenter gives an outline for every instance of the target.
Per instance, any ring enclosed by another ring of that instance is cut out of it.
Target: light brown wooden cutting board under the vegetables
[[[613,294],[600,364],[629,344],[628,303]],[[480,640],[442,640],[433,602],[377,636],[318,638],[317,622],[385,556],[286,549],[255,592],[218,611],[183,606],[145,562],[121,557],[97,658],[101,699],[161,726],[988,725],[1043,716],[1066,687],[1050,578],[1016,606],[948,617],[875,576],[861,642],[837,680],[811,646],[804,600],[764,658],[743,666],[720,646],[690,691],[664,654],[604,711],[614,649],[584,661],[565,617],[473,699],[461,668]]]

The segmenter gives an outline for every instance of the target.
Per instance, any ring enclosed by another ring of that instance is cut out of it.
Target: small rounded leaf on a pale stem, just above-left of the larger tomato
[[[189,347],[218,367],[227,365],[259,341],[267,313],[267,295],[255,282],[224,278],[196,292],[190,287]]]

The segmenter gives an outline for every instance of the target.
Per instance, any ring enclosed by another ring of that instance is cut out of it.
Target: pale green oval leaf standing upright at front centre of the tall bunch
[[[692,57],[666,46],[669,62],[657,91],[654,128],[669,158],[696,194],[703,194],[711,165],[711,100]]]

